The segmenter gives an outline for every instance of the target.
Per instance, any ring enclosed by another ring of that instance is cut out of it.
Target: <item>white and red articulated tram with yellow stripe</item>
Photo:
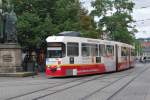
[[[46,76],[64,77],[115,72],[134,67],[129,44],[73,36],[49,36]]]

